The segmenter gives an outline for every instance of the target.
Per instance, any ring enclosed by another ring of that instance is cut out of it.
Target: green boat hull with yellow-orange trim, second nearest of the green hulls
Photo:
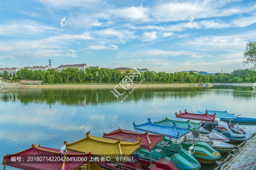
[[[214,161],[221,158],[221,154],[214,150],[209,144],[204,142],[197,142],[194,144],[194,149],[189,150],[189,147],[192,148],[193,144],[183,143],[177,141],[176,148],[175,142],[163,137],[162,141],[162,150],[180,153],[180,150],[185,149],[190,151],[191,155],[195,157],[201,164],[212,164]],[[157,144],[156,148],[160,148],[160,143]]]

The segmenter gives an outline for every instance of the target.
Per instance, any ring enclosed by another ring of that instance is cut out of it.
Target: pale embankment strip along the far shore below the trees
[[[116,85],[118,85],[116,87]],[[138,84],[134,84],[132,87]],[[209,86],[213,86],[209,84]],[[182,86],[191,86],[190,84],[140,84],[139,87],[182,87]],[[197,85],[196,85],[197,86]],[[17,87],[20,88],[122,88],[119,84],[112,84],[112,85],[18,85]],[[138,88],[139,88],[138,87]],[[206,87],[206,86],[205,86]]]

